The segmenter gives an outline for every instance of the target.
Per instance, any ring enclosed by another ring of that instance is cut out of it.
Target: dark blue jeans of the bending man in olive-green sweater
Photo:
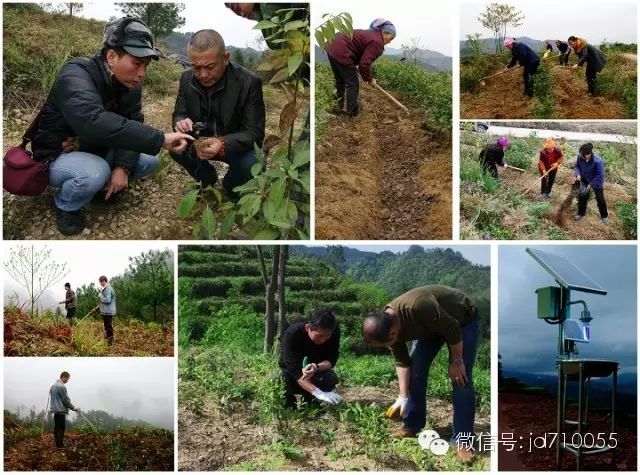
[[[453,386],[453,437],[460,433],[473,433],[476,415],[476,397],[473,388],[473,363],[478,350],[479,322],[475,320],[463,325],[462,359],[469,382],[462,387]],[[411,348],[411,379],[409,381],[409,401],[403,417],[404,425],[418,433],[427,422],[427,384],[429,368],[442,348],[443,340],[416,340]]]

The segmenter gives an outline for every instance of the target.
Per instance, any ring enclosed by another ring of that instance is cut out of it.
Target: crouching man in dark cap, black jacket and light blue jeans
[[[82,209],[97,193],[109,199],[129,180],[153,173],[161,148],[186,149],[191,137],[144,125],[141,86],[147,66],[159,59],[153,35],[140,20],[110,21],[103,48],[74,58],[58,73],[32,142],[34,158],[50,162],[58,230],[79,234]]]

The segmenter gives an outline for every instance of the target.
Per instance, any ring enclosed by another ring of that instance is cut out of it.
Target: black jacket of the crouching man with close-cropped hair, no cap
[[[207,93],[193,72],[185,71],[180,78],[173,125],[186,118],[206,123],[206,135],[224,137],[226,154],[253,150],[254,143],[261,147],[265,127],[262,81],[230,62],[220,81]]]

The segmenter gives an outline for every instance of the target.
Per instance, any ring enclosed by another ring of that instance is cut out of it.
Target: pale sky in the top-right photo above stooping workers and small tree
[[[482,27],[478,16],[492,2],[465,2],[460,8],[460,39],[468,34],[480,33],[483,38],[493,38],[492,32]],[[562,39],[571,36],[586,38],[591,43],[603,40],[623,43],[637,42],[636,5],[629,1],[529,1],[505,2],[524,13],[522,26],[509,27],[510,36],[528,36],[536,40]]]

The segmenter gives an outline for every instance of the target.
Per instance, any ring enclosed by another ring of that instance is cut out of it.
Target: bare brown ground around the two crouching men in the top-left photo
[[[177,90],[177,85],[176,85]],[[267,135],[278,128],[279,111],[286,98],[281,91],[265,88],[267,108]],[[171,123],[175,97],[147,97],[143,100],[145,121],[158,129],[166,130]],[[298,122],[304,121],[307,110],[301,107]],[[29,123],[31,112],[15,114],[5,121],[4,152],[20,142],[20,135]],[[20,118],[22,117],[22,118]],[[16,123],[15,119],[20,123]],[[271,131],[271,132],[269,132]],[[3,192],[5,239],[193,239],[193,222],[178,218],[177,206],[193,180],[177,165],[168,153],[161,152],[161,170],[155,177],[132,183],[113,203],[90,203],[85,208],[87,227],[77,236],[63,236],[56,228],[53,193],[48,189],[43,195],[31,198]],[[219,181],[226,173],[227,165],[214,162]]]

